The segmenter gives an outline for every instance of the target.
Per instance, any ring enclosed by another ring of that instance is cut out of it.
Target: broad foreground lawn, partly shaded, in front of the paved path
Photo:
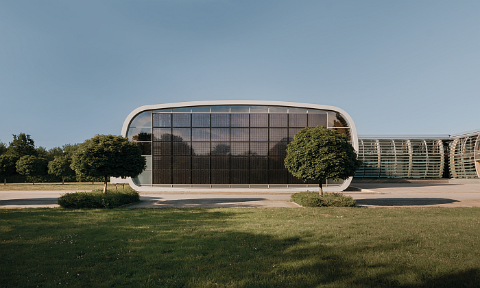
[[[2,209],[0,287],[479,287],[480,209]]]

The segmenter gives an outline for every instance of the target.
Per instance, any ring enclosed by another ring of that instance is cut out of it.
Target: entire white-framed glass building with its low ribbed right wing
[[[129,184],[139,191],[305,191],[283,165],[287,144],[304,127],[347,136],[363,166],[356,179],[478,178],[480,130],[459,135],[357,136],[342,109],[278,101],[197,101],[148,105],[125,119],[122,135],[137,142],[147,168]],[[352,179],[326,179],[339,192]]]

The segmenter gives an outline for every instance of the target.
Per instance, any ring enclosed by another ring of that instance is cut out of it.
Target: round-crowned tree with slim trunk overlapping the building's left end
[[[71,168],[77,174],[104,178],[105,193],[109,176],[135,177],[145,169],[145,164],[135,142],[121,136],[96,135],[75,150]]]

